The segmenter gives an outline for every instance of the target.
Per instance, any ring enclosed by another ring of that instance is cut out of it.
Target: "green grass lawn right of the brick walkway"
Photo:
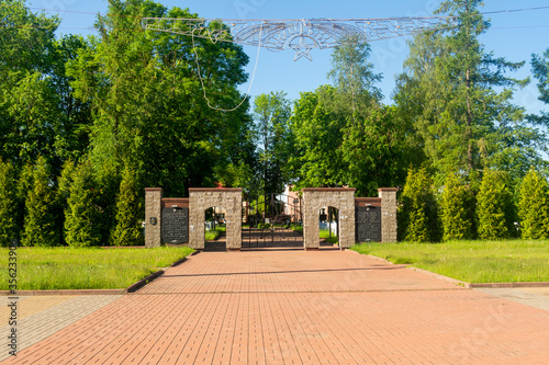
[[[366,243],[352,250],[468,283],[549,282],[548,240]]]

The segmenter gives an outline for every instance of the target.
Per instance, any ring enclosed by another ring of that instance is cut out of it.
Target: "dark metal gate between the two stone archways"
[[[266,194],[244,203],[242,248],[303,248],[302,199]]]

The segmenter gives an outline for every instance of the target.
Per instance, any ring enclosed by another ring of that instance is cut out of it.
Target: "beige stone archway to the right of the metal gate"
[[[303,189],[303,240],[305,250],[320,248],[318,212],[332,206],[339,209],[339,247],[355,244],[355,191],[346,187]]]

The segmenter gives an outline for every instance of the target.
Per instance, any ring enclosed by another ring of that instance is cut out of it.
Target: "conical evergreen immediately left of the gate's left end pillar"
[[[116,198],[116,226],[111,235],[111,243],[114,246],[143,244],[144,238],[139,226],[142,216],[135,171],[126,167],[122,173]]]

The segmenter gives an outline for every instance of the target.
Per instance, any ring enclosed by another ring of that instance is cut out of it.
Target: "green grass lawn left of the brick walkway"
[[[193,252],[189,248],[20,248],[18,289],[114,289]],[[0,249],[0,290],[8,290],[8,249]]]

